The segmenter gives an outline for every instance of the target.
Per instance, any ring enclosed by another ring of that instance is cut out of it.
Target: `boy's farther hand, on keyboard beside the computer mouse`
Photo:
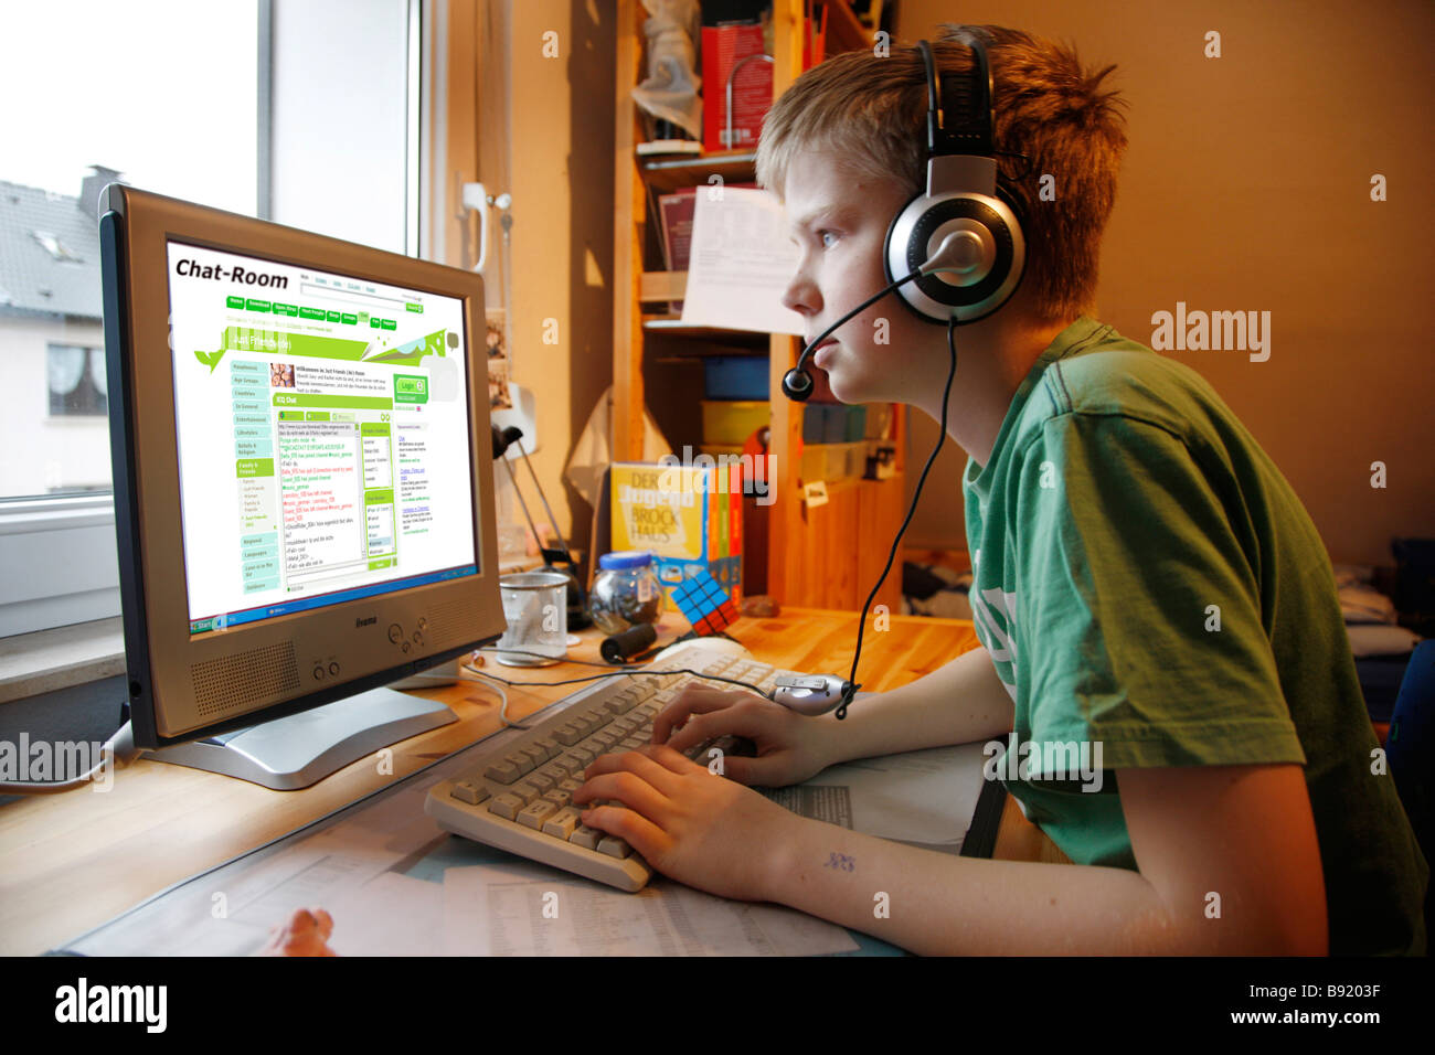
[[[751,692],[689,685],[653,716],[653,744],[687,752],[719,736],[745,736],[758,756],[726,756],[725,775],[739,784],[784,788],[839,761],[832,754],[831,725]],[[673,732],[674,726],[682,728]]]

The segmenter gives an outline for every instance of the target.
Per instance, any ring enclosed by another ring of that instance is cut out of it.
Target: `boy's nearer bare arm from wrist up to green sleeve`
[[[1118,781],[1141,871],[938,855],[806,822],[772,843],[766,894],[924,955],[1326,953],[1300,766]]]

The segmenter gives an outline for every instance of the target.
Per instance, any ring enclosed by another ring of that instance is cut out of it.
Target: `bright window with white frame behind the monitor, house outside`
[[[0,444],[23,454],[0,459],[0,564],[24,581],[0,597],[0,637],[119,613],[100,189],[123,181],[416,254],[422,6],[6,9],[23,46],[0,63],[0,90],[7,141],[24,149],[0,152]]]

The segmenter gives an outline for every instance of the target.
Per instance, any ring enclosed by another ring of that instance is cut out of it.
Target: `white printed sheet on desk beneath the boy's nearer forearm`
[[[729,901],[659,876],[636,894],[515,861],[443,873],[448,953],[472,956],[819,956],[842,927]]]

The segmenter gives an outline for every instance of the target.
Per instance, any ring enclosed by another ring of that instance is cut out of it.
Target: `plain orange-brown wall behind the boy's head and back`
[[[1151,343],[1154,311],[1271,313],[1271,355],[1171,352],[1204,375],[1290,479],[1336,561],[1389,564],[1435,535],[1431,300],[1435,6],[1333,0],[1106,4],[903,0],[900,43],[996,23],[1115,62],[1126,152],[1099,314]],[[1220,59],[1204,57],[1208,30]],[[1389,200],[1370,201],[1383,174]],[[960,333],[960,332],[959,332]],[[960,372],[957,378],[960,383]],[[937,426],[913,415],[917,469]],[[910,545],[963,547],[964,455],[928,478]],[[1388,487],[1370,487],[1383,461]]]

